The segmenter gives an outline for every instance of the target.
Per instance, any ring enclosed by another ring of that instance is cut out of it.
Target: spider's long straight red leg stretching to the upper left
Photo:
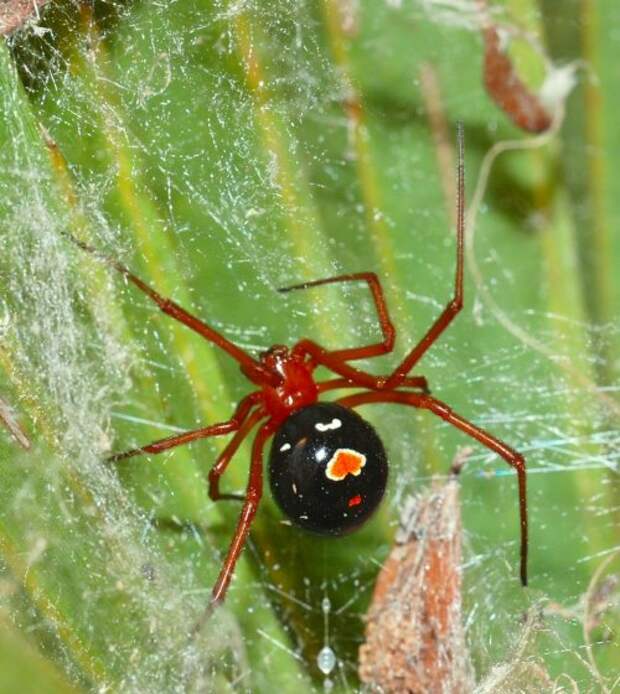
[[[265,383],[269,383],[271,385],[279,384],[280,379],[276,374],[266,369],[260,362],[256,361],[249,354],[247,354],[247,352],[230,342],[230,340],[226,339],[210,325],[207,325],[203,321],[193,316],[191,313],[188,313],[184,308],[181,308],[181,306],[176,304],[171,299],[161,296],[146,282],[130,272],[121,263],[111,258],[102,256],[101,253],[99,253],[99,251],[97,251],[95,248],[92,248],[82,241],[79,241],[73,236],[70,238],[82,250],[101,258],[105,263],[110,265],[110,267],[113,267],[117,272],[120,272],[120,274],[123,275],[126,280],[134,284],[140,291],[144,292],[144,294],[154,301],[165,314],[171,316],[175,320],[178,320],[180,323],[183,323],[183,325],[186,325],[188,328],[204,337],[205,340],[213,342],[213,344],[223,349],[240,364],[243,372],[254,383],[257,385],[263,385]]]

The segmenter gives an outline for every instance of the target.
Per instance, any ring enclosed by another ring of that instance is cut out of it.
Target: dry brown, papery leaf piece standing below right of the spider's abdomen
[[[373,691],[472,691],[461,619],[461,529],[455,477],[405,503],[360,648],[360,678]]]

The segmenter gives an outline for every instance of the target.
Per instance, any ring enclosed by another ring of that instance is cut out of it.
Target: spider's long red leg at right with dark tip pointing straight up
[[[343,363],[342,352],[330,352],[312,340],[301,340],[293,351],[301,356],[308,355],[317,363],[326,366],[334,373],[344,376],[355,385],[370,388],[372,390],[392,390],[403,383],[407,374],[422,358],[428,348],[437,340],[443,331],[450,325],[455,316],[463,307],[463,256],[465,234],[465,183],[464,183],[464,153],[463,153],[463,128],[459,124],[458,129],[459,165],[458,165],[458,196],[457,196],[457,236],[456,236],[456,274],[454,280],[454,296],[442,311],[439,318],[426,332],[426,335],[409,352],[403,361],[387,376],[372,376],[359,369],[354,369]],[[303,286],[303,285],[302,285]],[[386,313],[387,313],[387,309]],[[367,356],[364,353],[366,347],[360,347],[360,352],[355,349],[346,350],[347,359],[359,359]]]

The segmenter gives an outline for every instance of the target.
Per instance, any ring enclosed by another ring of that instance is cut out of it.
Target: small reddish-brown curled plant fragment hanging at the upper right
[[[552,117],[539,97],[519,79],[510,58],[502,50],[494,26],[482,30],[484,38],[484,86],[493,101],[518,127],[541,133],[551,126]]]

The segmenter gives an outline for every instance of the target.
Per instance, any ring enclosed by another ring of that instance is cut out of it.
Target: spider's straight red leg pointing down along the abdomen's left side
[[[269,422],[267,422],[258,430],[256,438],[254,439],[252,445],[252,461],[250,463],[250,477],[248,479],[245,502],[222,570],[213,586],[213,591],[211,593],[212,604],[222,602],[226,595],[235,570],[235,564],[237,563],[237,559],[239,559],[241,550],[250,532],[250,526],[256,515],[256,510],[258,509],[258,504],[263,494],[263,448],[271,433]]]

